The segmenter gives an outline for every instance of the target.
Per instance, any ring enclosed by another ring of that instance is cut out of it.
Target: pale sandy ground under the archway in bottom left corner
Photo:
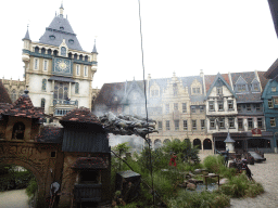
[[[0,192],[0,208],[29,208],[25,190]]]

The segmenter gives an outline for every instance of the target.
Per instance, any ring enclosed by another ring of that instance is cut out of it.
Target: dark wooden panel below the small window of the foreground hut
[[[74,198],[76,202],[101,202],[102,184],[75,184]]]

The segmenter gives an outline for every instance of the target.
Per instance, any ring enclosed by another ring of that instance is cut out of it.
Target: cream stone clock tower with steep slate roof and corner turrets
[[[92,52],[83,50],[64,8],[55,15],[39,41],[31,41],[27,29],[22,60],[25,84],[36,107],[61,117],[76,107],[91,108],[91,82],[97,72],[96,42]]]

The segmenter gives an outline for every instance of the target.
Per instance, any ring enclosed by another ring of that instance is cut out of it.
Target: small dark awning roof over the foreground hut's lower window
[[[108,164],[101,157],[78,157],[74,165],[74,169],[106,169]]]

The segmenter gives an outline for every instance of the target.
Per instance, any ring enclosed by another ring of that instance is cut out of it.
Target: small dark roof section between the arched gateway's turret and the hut
[[[62,143],[63,133],[63,128],[43,127],[40,133],[36,135],[35,141],[39,143]]]

